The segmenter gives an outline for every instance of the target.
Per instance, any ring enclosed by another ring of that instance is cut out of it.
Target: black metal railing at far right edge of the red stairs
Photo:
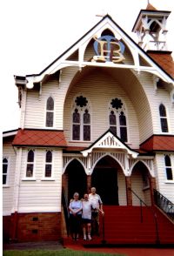
[[[174,221],[174,204],[156,189],[153,190],[155,204]]]

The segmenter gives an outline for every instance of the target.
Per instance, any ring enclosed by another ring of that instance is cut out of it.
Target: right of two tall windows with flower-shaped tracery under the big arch
[[[110,130],[121,138],[121,140],[127,142],[127,122],[123,102],[121,99],[113,98],[110,102],[109,109]]]

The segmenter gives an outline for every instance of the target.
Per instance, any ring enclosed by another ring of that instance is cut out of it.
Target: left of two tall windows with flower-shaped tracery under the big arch
[[[90,141],[90,108],[83,96],[76,98],[72,113],[72,139]]]

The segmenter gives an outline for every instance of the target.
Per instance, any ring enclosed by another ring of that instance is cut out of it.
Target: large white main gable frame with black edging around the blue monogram
[[[104,30],[105,29],[110,29],[114,30],[117,32],[118,37],[122,38],[125,44],[128,45],[128,47],[131,50],[132,57],[134,58],[134,65],[125,65],[125,64],[113,64],[113,63],[91,63],[91,62],[84,62],[82,60],[78,60],[76,63],[74,62],[74,65],[77,65],[77,67],[81,66],[84,67],[86,65],[91,65],[91,66],[101,66],[101,67],[116,67],[116,68],[130,68],[134,69],[136,71],[148,71],[151,72],[152,74],[157,75],[160,77],[162,80],[164,80],[167,83],[173,84],[173,79],[170,76],[167,71],[163,70],[160,68],[160,66],[154,62],[154,60],[138,45],[136,44],[132,38],[126,34],[124,30],[121,29],[121,27],[116,24],[116,22],[110,17],[110,15],[104,16],[101,21],[99,21],[95,26],[93,26],[87,33],[84,34],[83,37],[77,40],[75,44],[72,44],[70,48],[67,51],[64,51],[63,54],[61,54],[59,57],[57,57],[50,65],[48,65],[43,71],[41,71],[39,74],[32,74],[32,75],[26,75],[26,79],[23,79],[23,83],[28,82],[27,88],[32,88],[33,83],[37,83],[40,81],[43,81],[43,78],[45,76],[48,76],[50,74],[55,73],[56,71],[59,71],[63,69],[66,66],[70,65],[69,63],[66,62],[67,58],[70,57],[72,53],[77,51],[78,49],[81,49],[84,46],[87,46],[89,44],[90,40],[94,35],[98,32],[98,30]],[[83,45],[83,47],[82,47]],[[85,48],[85,47],[84,47]],[[149,64],[148,66],[141,66],[139,64],[138,56],[141,56],[144,58],[144,60]],[[65,64],[66,62],[66,64]],[[71,63],[73,64],[73,63]],[[18,76],[17,76],[18,77]]]

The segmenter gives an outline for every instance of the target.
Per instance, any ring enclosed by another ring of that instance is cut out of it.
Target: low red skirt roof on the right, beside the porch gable
[[[142,145],[141,150],[151,151],[167,151],[174,152],[174,136],[170,135],[153,135],[148,138]]]

